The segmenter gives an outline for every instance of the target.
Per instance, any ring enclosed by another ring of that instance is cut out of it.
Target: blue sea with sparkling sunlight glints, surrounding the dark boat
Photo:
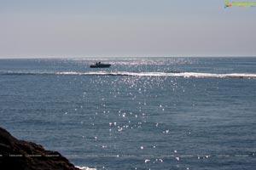
[[[0,126],[96,169],[254,169],[256,58],[0,59]]]

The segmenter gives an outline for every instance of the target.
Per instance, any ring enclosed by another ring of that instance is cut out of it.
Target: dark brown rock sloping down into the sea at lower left
[[[39,144],[15,139],[0,127],[1,170],[79,170],[59,152]]]

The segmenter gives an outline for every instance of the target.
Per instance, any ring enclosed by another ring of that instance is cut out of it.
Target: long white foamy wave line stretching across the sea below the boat
[[[253,73],[200,73],[200,72],[128,72],[128,71],[0,71],[0,75],[67,75],[67,76],[131,76],[131,77],[217,77],[256,78]]]

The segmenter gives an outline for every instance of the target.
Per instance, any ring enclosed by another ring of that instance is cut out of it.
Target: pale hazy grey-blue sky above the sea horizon
[[[255,31],[224,0],[0,0],[0,58],[256,56]]]

